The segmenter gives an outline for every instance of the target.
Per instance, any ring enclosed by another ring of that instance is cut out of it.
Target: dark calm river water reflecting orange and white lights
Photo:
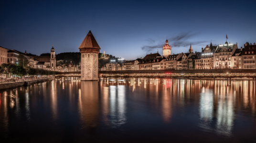
[[[1,143],[256,142],[253,81],[53,80],[15,89],[0,91]]]

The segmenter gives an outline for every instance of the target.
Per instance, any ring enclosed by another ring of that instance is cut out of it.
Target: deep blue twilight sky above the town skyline
[[[0,46],[40,55],[78,52],[89,30],[101,51],[134,60],[207,44],[256,42],[256,0],[0,0]]]

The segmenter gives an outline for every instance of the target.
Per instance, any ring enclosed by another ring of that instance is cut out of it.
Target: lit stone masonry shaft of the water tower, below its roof
[[[81,81],[98,80],[98,53],[81,54]]]

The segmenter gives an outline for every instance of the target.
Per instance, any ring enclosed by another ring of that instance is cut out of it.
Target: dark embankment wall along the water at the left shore
[[[31,84],[38,83],[38,82],[47,82],[47,81],[52,81],[52,80],[54,80],[54,77],[45,78],[45,79],[36,79],[36,80],[32,80],[32,81],[5,83],[5,84],[0,84],[0,90],[14,88],[14,87],[23,86],[23,85],[31,85]]]

